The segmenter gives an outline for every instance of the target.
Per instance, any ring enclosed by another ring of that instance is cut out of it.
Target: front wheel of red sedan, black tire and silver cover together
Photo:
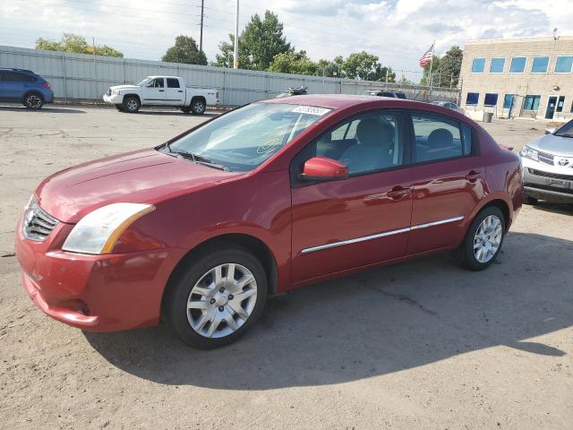
[[[267,298],[261,262],[244,247],[231,243],[205,248],[184,264],[187,262],[189,266],[175,274],[163,298],[167,327],[193,348],[219,348],[234,342],[261,316]],[[229,283],[231,264],[235,276]],[[247,280],[243,287],[237,285]],[[189,303],[194,305],[188,307]]]

